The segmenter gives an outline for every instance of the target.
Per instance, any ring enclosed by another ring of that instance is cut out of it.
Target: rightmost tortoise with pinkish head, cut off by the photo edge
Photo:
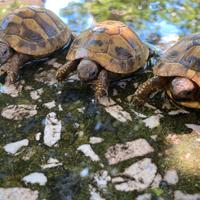
[[[150,93],[164,89],[177,104],[200,109],[200,34],[185,36],[170,47],[153,73],[138,87],[133,101],[143,103]]]

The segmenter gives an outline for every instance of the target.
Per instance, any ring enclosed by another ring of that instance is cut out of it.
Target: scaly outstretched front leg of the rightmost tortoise
[[[154,76],[141,84],[129,100],[138,105],[143,105],[151,93],[165,89],[167,83],[168,78]]]

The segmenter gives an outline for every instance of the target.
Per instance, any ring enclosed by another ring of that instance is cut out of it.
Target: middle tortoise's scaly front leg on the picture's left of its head
[[[58,69],[56,72],[56,78],[59,81],[62,81],[67,77],[71,72],[75,71],[78,65],[78,61],[71,61],[64,64],[62,67]]]

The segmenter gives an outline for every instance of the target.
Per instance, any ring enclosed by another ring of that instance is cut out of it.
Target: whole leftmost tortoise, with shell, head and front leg
[[[72,39],[66,25],[45,8],[23,7],[5,16],[0,26],[0,65],[6,69],[6,84],[16,81],[24,63],[47,57]]]

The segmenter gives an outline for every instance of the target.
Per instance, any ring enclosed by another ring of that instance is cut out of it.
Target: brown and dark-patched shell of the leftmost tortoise
[[[24,7],[1,22],[4,37],[15,51],[32,56],[48,55],[71,39],[71,31],[50,10]]]

